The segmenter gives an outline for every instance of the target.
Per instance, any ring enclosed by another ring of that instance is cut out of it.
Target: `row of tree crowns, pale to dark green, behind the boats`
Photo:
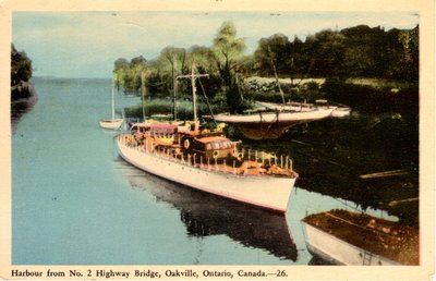
[[[341,30],[324,29],[305,40],[284,34],[261,38],[254,53],[244,53],[245,41],[238,37],[232,22],[223,22],[210,46],[194,45],[187,49],[165,47],[159,57],[131,61],[118,59],[114,72],[126,91],[141,89],[145,73],[150,95],[171,95],[174,75],[187,74],[195,63],[201,73],[209,74],[202,86],[209,97],[225,97],[228,109],[244,106],[244,78],[255,75],[290,77],[350,78],[370,77],[417,83],[419,26],[390,29],[358,25]],[[182,94],[189,84],[181,82]],[[280,89],[281,91],[281,89]],[[167,93],[167,94],[166,94]],[[184,94],[183,94],[184,93]]]

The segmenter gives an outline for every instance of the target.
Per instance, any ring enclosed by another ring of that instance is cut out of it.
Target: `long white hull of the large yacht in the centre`
[[[164,179],[192,188],[258,206],[278,212],[288,209],[295,179],[271,175],[240,175],[199,169],[173,158],[144,151],[143,147],[124,145],[116,138],[120,156],[131,164]]]

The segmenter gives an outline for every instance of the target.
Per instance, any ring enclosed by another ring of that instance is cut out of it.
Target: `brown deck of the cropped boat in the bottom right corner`
[[[330,210],[304,222],[347,243],[403,265],[419,265],[419,230],[365,213]]]

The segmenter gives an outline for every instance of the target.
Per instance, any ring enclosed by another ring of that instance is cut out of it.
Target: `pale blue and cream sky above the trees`
[[[167,46],[211,46],[225,21],[253,53],[261,38],[281,33],[305,40],[323,29],[413,28],[416,12],[13,12],[12,42],[33,61],[34,76],[111,77],[119,58],[155,59]]]

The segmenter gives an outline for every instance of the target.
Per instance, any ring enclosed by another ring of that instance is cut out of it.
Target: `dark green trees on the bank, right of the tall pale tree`
[[[419,26],[410,30],[359,25],[338,30],[326,29],[298,37],[284,35],[262,38],[254,52],[253,71],[281,76],[383,77],[417,82]]]

